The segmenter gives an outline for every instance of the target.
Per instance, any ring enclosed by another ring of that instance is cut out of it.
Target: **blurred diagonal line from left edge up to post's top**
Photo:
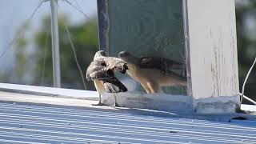
[[[26,26],[32,20],[32,18],[34,17],[34,14],[36,14],[39,7],[42,6],[43,2],[46,2],[46,0],[40,0],[38,2],[38,6],[34,9],[33,13],[30,15],[30,17],[26,19],[26,22],[23,24],[23,26]],[[23,36],[21,34],[23,34],[23,29],[19,30],[18,33],[14,36],[14,39],[8,44],[8,46],[6,46],[6,48],[3,50],[2,54],[0,55],[0,58],[2,58],[6,54],[7,50],[9,50],[9,48],[12,48],[12,46],[14,45],[14,42],[17,42],[17,40]]]

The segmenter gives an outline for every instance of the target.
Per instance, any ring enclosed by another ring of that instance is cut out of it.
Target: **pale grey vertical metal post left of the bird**
[[[51,7],[51,43],[54,70],[54,87],[61,87],[61,71],[58,44],[58,0],[50,0]]]

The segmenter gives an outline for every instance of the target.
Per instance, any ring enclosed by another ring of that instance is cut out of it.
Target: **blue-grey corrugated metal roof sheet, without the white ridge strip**
[[[1,143],[255,143],[256,126],[0,102]]]

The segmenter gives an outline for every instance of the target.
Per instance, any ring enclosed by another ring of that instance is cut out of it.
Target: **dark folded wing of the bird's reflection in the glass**
[[[160,57],[142,57],[138,63],[138,66],[148,69],[159,69],[159,70],[183,70],[184,65],[181,62],[175,62],[168,58]]]

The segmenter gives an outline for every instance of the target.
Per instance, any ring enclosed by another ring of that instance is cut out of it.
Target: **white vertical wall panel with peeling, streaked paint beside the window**
[[[201,99],[237,95],[234,0],[185,2],[193,97]]]

